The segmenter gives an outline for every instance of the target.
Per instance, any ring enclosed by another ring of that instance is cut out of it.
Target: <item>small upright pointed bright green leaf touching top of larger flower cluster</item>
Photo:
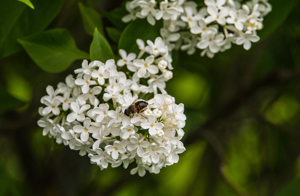
[[[106,62],[108,59],[114,59],[113,50],[103,35],[95,28],[93,41],[90,46],[91,61],[98,60]]]

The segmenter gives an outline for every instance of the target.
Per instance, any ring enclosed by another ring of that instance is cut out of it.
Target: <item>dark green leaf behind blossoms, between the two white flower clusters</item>
[[[118,49],[124,49],[127,53],[138,53],[139,48],[136,40],[142,39],[146,42],[150,39],[154,42],[155,38],[159,37],[159,30],[162,27],[162,20],[156,22],[154,26],[149,24],[146,19],[136,19],[128,24],[121,34]]]

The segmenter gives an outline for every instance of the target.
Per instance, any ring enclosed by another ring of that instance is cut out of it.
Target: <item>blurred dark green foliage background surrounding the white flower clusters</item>
[[[101,171],[87,156],[42,136],[38,107],[46,86],[63,82],[82,60],[48,73],[16,42],[66,28],[88,53],[93,29],[83,11],[92,8],[117,56],[127,25],[116,22],[126,13],[118,8],[124,3],[31,2],[35,9],[0,3],[0,195],[300,195],[299,1],[269,0],[273,11],[249,51],[234,45],[213,59],[199,50],[173,53],[166,90],[185,105],[187,150],[178,163],[145,177],[129,173],[134,163]]]

